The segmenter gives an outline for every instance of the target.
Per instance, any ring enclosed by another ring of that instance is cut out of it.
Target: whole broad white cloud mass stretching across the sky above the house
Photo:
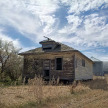
[[[105,18],[93,14],[85,17],[75,15],[89,9],[96,9],[107,0],[6,0],[0,1],[0,24],[10,25],[16,28],[27,38],[34,42],[43,39],[43,36],[49,36],[56,39],[58,36],[62,42],[72,42],[76,45],[88,44],[88,46],[96,46],[96,44],[104,45],[107,39],[107,25]],[[59,20],[54,16],[54,12],[59,9],[59,3],[70,6],[68,15],[68,23],[62,28],[58,28]],[[82,22],[84,23],[82,25]],[[79,26],[82,26],[78,28]],[[67,39],[68,35],[75,34]],[[55,35],[55,36],[54,36]],[[98,41],[98,42],[95,42]]]

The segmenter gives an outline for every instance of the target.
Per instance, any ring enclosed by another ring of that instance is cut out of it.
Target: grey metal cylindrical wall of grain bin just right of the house
[[[93,74],[96,76],[103,76],[104,72],[103,72],[103,62],[101,61],[94,61],[93,64]]]

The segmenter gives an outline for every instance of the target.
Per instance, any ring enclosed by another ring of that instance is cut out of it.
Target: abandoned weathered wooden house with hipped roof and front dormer
[[[80,51],[51,39],[41,41],[42,47],[29,50],[24,56],[23,77],[44,79],[87,80],[93,78],[93,62]]]

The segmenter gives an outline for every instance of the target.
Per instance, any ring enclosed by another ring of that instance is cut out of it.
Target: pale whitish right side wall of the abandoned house
[[[85,60],[85,67],[82,66],[82,59]],[[81,54],[75,54],[75,80],[93,79],[93,63]]]

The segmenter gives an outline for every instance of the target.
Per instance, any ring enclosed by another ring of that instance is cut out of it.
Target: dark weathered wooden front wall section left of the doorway
[[[36,75],[42,75],[42,60],[35,59],[32,56],[24,56],[23,77],[34,78]]]

